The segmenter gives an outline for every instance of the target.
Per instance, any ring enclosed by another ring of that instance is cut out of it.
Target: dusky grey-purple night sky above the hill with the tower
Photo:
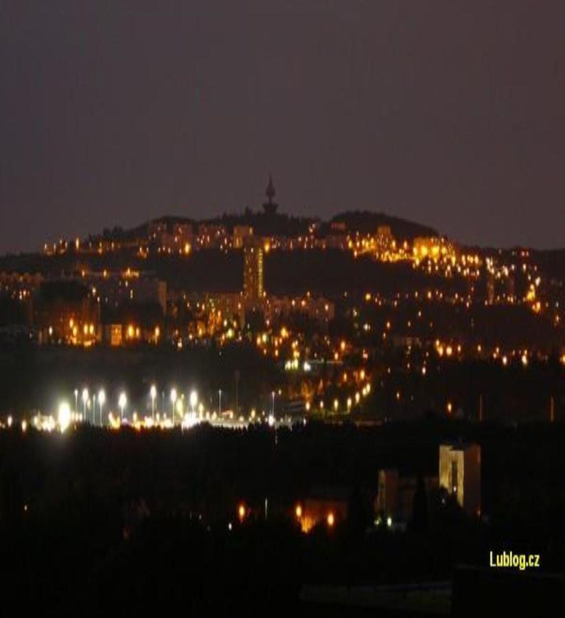
[[[565,3],[0,0],[0,251],[375,209],[564,242]]]

